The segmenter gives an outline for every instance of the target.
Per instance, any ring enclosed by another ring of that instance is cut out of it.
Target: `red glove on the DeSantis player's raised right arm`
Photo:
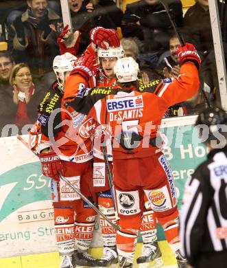
[[[183,47],[178,47],[177,54],[179,56],[180,64],[183,65],[187,61],[192,61],[195,66],[200,70],[201,60],[195,47],[190,43],[185,43]]]

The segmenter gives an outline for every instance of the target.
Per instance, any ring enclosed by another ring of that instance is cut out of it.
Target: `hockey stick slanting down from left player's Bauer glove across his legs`
[[[19,141],[22,142],[27,148],[29,148],[29,150],[31,150],[29,144],[25,141],[25,139],[23,139],[23,137],[21,137],[20,135],[16,135],[16,138],[19,139]],[[32,153],[34,153],[34,155],[38,156],[38,153],[36,153],[33,150],[32,150]],[[84,197],[84,194],[82,194],[82,192],[80,192],[80,189],[73,186],[73,184],[70,181],[68,181],[67,179],[65,179],[60,173],[58,173],[58,175],[59,175],[60,179],[62,179],[62,181],[67,183],[67,185],[69,187],[71,187],[88,205],[90,205],[91,208],[93,208],[93,210],[95,210],[95,212],[97,212],[97,214],[101,215],[110,225],[112,225],[112,227],[114,227],[115,230],[120,230],[119,225],[110,221],[110,219],[108,219],[105,214],[103,214],[99,209],[97,209],[96,206],[93,203],[91,203],[90,200],[88,200],[86,197]]]

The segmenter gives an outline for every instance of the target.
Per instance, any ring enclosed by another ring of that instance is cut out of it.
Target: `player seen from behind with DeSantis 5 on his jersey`
[[[132,58],[121,58],[115,66],[119,89],[82,90],[77,97],[65,96],[67,107],[92,116],[112,133],[114,184],[119,225],[117,250],[120,267],[132,267],[137,232],[141,227],[141,208],[146,194],[163,226],[178,267],[187,267],[180,254],[178,210],[174,179],[165,155],[157,146],[158,127],[169,106],[191,98],[198,92],[200,57],[195,47],[178,49],[178,78],[150,82],[137,91],[138,65]],[[77,83],[86,79],[74,73]],[[67,82],[70,84],[71,78]]]

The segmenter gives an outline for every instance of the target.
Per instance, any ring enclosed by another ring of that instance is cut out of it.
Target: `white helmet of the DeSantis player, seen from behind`
[[[117,82],[132,82],[138,80],[139,65],[132,57],[119,58],[114,71]]]

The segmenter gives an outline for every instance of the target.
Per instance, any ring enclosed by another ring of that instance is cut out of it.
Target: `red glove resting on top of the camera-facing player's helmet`
[[[90,39],[103,49],[108,49],[106,42],[110,47],[119,47],[120,41],[116,30],[106,29],[104,27],[95,27],[90,31]]]

